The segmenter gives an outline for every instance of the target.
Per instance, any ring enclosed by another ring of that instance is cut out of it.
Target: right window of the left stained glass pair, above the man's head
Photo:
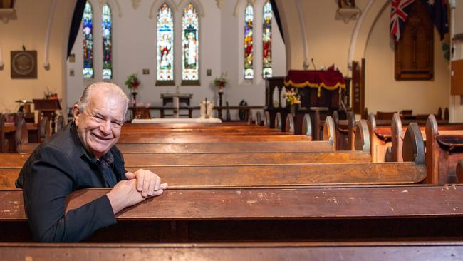
[[[113,78],[113,16],[108,4],[103,6],[101,30],[103,35],[103,80]]]

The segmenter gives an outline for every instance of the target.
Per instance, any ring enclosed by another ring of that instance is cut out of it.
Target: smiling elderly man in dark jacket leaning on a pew
[[[93,83],[73,107],[73,121],[38,146],[24,164],[23,188],[33,240],[73,242],[115,224],[115,213],[161,195],[167,188],[149,170],[125,172],[120,137],[128,98],[113,83]],[[66,197],[83,188],[113,188],[101,198],[66,211]]]

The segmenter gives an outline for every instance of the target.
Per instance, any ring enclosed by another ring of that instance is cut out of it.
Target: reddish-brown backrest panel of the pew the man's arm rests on
[[[80,190],[68,209],[108,189]],[[337,219],[463,217],[463,185],[298,189],[168,189],[116,215],[118,220]],[[162,210],[162,211],[160,211]],[[22,190],[0,190],[0,221],[26,220]]]

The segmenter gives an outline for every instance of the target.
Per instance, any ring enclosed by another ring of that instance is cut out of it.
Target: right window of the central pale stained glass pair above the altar
[[[182,19],[182,80],[199,80],[199,16],[193,4],[188,4]]]

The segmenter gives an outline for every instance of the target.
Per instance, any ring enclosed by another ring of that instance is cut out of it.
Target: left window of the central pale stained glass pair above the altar
[[[174,18],[166,3],[157,12],[157,81],[174,79]]]

